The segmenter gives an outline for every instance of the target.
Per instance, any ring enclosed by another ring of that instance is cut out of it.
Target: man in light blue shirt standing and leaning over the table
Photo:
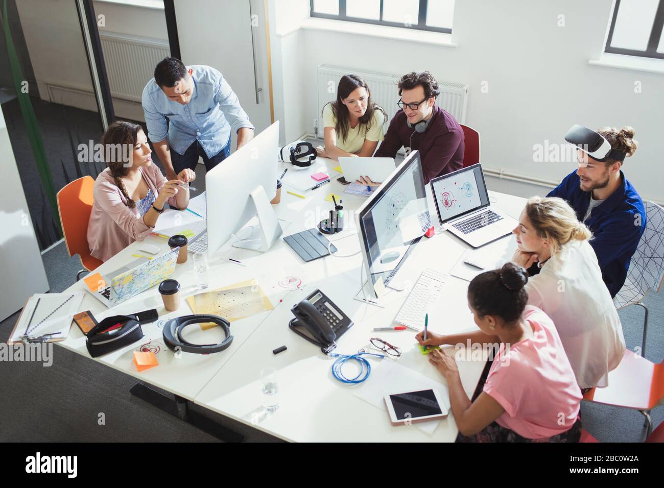
[[[143,88],[142,104],[148,137],[169,180],[195,169],[199,156],[207,171],[226,159],[231,131],[238,134],[237,149],[254,137],[238,97],[210,66],[187,69],[177,58],[164,58]]]

